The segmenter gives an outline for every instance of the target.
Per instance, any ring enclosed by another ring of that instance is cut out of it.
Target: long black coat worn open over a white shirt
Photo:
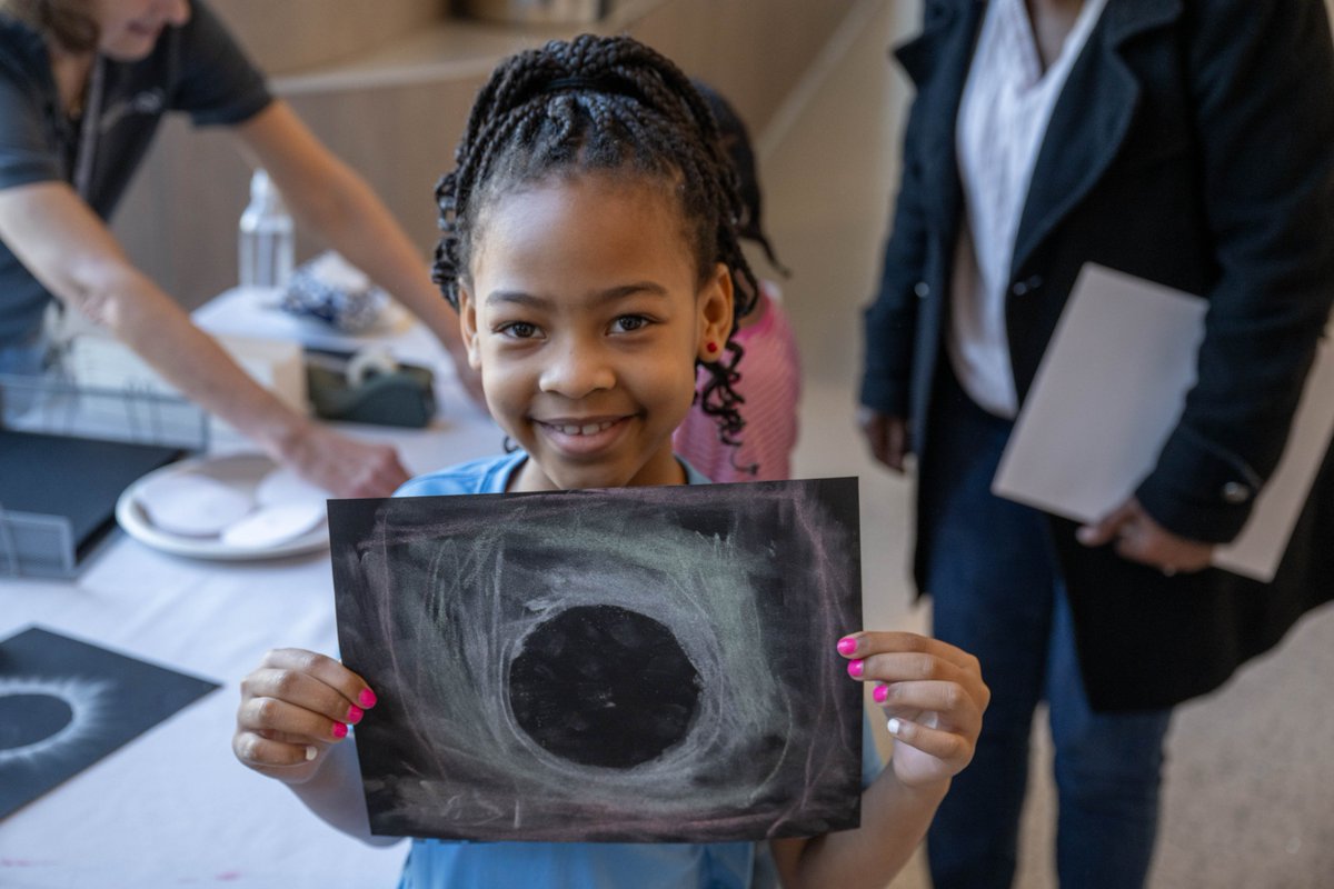
[[[923,474],[963,208],[955,119],[983,9],[926,0],[922,35],[898,51],[918,96],[866,312],[862,403],[911,420]],[[1178,534],[1231,540],[1282,453],[1334,300],[1323,0],[1110,0],[1053,112],[1019,224],[1006,317],[1021,403],[1086,263],[1209,300],[1198,383],[1137,496]],[[919,516],[930,509],[919,500]],[[1169,578],[1086,549],[1074,529],[1051,520],[1090,698],[1171,705],[1334,597],[1334,453],[1270,585],[1215,569]],[[916,556],[920,584],[922,534]]]

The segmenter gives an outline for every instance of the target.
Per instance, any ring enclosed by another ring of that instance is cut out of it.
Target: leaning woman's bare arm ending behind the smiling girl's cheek
[[[480,400],[480,383],[468,365],[459,335],[459,316],[431,283],[426,261],[366,181],[324,148],[281,100],[240,124],[236,132],[297,219],[422,319],[448,351],[459,379]]]

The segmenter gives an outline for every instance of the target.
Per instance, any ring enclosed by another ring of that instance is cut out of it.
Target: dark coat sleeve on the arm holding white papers
[[[1210,0],[1183,21],[1218,280],[1195,387],[1135,494],[1167,530],[1223,542],[1282,454],[1334,300],[1334,45],[1322,0]]]

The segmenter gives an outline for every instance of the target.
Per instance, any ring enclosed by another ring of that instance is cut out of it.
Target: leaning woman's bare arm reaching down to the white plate
[[[407,478],[391,448],[303,417],[241,371],[136,269],[64,183],[0,191],[0,240],[51,293],[105,327],[180,392],[275,460],[339,496],[384,496]]]

